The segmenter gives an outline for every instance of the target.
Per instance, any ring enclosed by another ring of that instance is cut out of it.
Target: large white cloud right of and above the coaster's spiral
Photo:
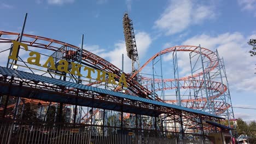
[[[241,33],[224,33],[211,37],[210,35],[196,35],[184,41],[183,45],[199,45],[215,51],[218,49],[220,57],[224,57],[226,73],[230,88],[234,91],[248,91],[256,93],[256,77],[254,75],[255,59],[249,56],[248,38]]]

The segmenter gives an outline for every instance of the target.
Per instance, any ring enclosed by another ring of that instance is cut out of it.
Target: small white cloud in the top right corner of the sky
[[[237,2],[242,10],[252,11],[256,16],[256,0],[238,0]]]

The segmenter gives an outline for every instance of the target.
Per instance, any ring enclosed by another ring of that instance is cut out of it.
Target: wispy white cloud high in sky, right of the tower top
[[[190,0],[172,0],[160,18],[155,21],[156,28],[166,35],[179,33],[190,25],[196,25],[203,20],[214,17],[212,6],[194,4]]]

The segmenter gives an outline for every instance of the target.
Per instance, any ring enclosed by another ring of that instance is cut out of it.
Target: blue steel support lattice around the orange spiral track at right
[[[189,52],[190,76],[179,77],[178,56],[176,54],[179,51]],[[153,92],[176,89],[174,94],[176,99],[166,99],[167,103],[210,112],[223,116],[228,121],[230,118],[234,118],[223,58],[219,58],[217,51],[213,52],[201,46],[170,47],[156,53],[138,70],[138,73],[150,65],[151,61],[154,63],[156,58],[160,57],[161,59],[161,56],[166,53],[172,53],[174,79],[155,79],[154,75],[156,74],[153,74],[153,78],[145,75],[142,76],[144,87],[152,89]],[[160,67],[162,67],[161,63]],[[162,73],[159,76],[162,77]],[[181,93],[181,89],[187,90]]]

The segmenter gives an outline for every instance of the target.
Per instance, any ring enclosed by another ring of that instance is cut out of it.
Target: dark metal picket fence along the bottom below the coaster
[[[167,131],[84,124],[29,123],[0,121],[0,143],[208,143],[201,135],[182,135]]]

